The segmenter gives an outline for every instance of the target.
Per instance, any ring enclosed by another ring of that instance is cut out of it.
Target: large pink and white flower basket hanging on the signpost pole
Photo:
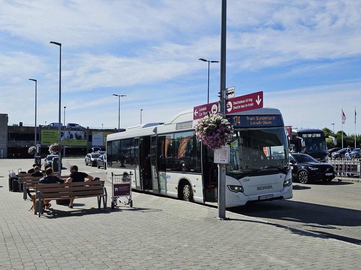
[[[223,118],[222,114],[203,117],[199,119],[194,128],[197,139],[203,141],[212,150],[226,145],[233,137],[233,126],[229,122],[229,118]]]

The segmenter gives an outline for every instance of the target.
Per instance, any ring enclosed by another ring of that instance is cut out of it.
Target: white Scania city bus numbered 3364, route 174
[[[291,199],[288,140],[278,109],[227,114],[234,126],[226,165],[226,207]],[[106,139],[107,177],[133,174],[132,189],[217,204],[214,152],[196,139],[193,110],[165,123],[147,123]]]

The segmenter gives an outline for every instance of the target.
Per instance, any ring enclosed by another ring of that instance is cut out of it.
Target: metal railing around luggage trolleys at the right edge
[[[361,161],[359,158],[331,158],[328,162],[334,166],[336,177],[361,178]]]

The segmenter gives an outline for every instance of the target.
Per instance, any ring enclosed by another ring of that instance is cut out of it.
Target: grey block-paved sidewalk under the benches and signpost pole
[[[78,199],[39,218],[9,192],[1,161],[0,270],[361,269],[360,246],[229,212],[219,221],[216,208],[138,192],[134,208],[112,210],[109,195],[108,210]]]

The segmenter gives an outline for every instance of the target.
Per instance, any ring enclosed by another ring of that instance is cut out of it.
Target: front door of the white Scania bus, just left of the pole
[[[218,201],[218,166],[214,163],[214,151],[203,144],[202,147],[202,178],[205,201]]]

